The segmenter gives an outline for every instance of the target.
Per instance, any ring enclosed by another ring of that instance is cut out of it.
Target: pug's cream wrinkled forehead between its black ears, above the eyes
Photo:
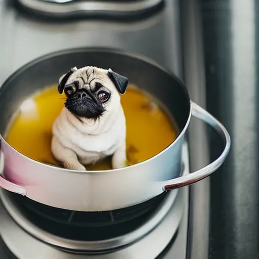
[[[66,86],[78,82],[79,89],[93,88],[97,82],[104,86],[110,84],[108,71],[102,68],[87,66],[74,71],[68,78]]]

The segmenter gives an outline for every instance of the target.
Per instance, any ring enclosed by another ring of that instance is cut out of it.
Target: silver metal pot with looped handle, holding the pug
[[[148,58],[109,49],[60,51],[40,57],[17,70],[0,88],[0,134],[3,136],[11,116],[29,95],[56,83],[68,68],[87,64],[112,67],[131,83],[160,100],[174,115],[180,129],[178,138],[156,156],[132,166],[103,171],[76,171],[32,160],[11,147],[2,137],[2,188],[63,209],[113,210],[198,182],[222,165],[229,153],[230,136],[217,119],[190,101],[183,83]],[[181,151],[191,116],[215,128],[224,139],[225,148],[218,159],[209,165],[181,177]]]

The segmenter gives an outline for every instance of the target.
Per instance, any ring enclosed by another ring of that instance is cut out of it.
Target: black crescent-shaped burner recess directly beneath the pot
[[[131,207],[100,212],[54,208],[18,194],[10,193],[10,196],[25,217],[40,229],[62,238],[97,241],[125,235],[142,226],[167,194]]]

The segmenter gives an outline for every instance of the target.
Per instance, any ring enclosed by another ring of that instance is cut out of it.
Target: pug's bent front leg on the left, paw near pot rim
[[[85,171],[85,167],[79,163],[75,152],[64,147],[55,137],[52,139],[51,149],[54,157],[62,162],[66,169]]]

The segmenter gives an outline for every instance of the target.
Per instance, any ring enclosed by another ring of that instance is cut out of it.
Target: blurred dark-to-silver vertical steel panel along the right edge
[[[224,123],[232,140],[226,163],[210,178],[209,259],[259,258],[258,4],[201,3],[206,109]],[[213,135],[210,141],[217,144]]]

